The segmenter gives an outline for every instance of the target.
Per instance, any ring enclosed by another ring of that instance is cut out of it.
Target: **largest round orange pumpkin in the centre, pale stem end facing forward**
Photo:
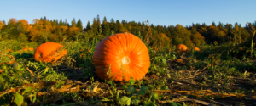
[[[102,80],[141,80],[148,72],[148,48],[131,33],[118,33],[99,42],[93,54],[96,75]],[[111,65],[110,65],[111,64]],[[109,69],[109,65],[111,70]],[[124,70],[124,71],[123,71]]]

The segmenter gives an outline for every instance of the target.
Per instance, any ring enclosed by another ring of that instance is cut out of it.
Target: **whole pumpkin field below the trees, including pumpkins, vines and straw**
[[[58,42],[3,37],[0,105],[256,105],[254,26],[240,42],[193,46],[171,46],[145,27],[144,36],[123,27],[109,36],[61,36]]]

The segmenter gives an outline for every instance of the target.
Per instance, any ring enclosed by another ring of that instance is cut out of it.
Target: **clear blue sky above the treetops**
[[[214,21],[223,24],[236,22],[245,26],[256,21],[256,0],[0,0],[0,20],[27,20],[46,17],[48,20],[73,18],[87,25],[93,18],[106,16],[109,22],[126,20],[153,25],[192,25]]]

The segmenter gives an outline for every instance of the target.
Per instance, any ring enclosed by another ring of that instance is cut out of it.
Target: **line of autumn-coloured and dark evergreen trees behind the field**
[[[0,21],[0,40],[15,39],[20,42],[61,42],[63,40],[75,41],[85,38],[103,39],[114,33],[129,32],[140,37],[143,42],[152,46],[169,47],[177,44],[186,46],[201,46],[211,43],[247,41],[252,36],[252,30],[256,28],[256,21],[241,27],[241,24],[223,24],[212,22],[212,25],[205,23],[192,23],[192,25],[153,25],[147,21],[135,22],[127,20],[107,21],[104,17],[100,20],[97,15],[83,28],[79,19],[72,20],[71,24],[67,20],[48,20],[44,18],[34,19],[32,24],[26,20],[9,19],[8,23]]]

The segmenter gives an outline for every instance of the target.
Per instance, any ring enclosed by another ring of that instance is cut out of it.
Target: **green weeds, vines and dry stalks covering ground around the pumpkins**
[[[18,52],[37,43],[2,41],[0,105],[255,105],[256,67],[246,43],[188,53],[148,47],[151,64],[143,80],[115,83],[96,76],[92,56],[99,41],[62,42],[68,54],[55,64]]]

